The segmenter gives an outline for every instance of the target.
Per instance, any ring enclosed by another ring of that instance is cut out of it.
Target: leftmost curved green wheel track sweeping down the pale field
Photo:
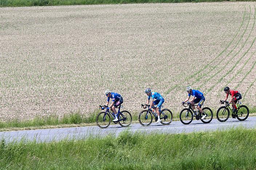
[[[242,22],[241,22],[241,24],[240,24],[240,26],[239,26],[239,29],[237,30],[237,33],[236,33],[235,36],[232,38],[232,40],[228,43],[228,46],[225,47],[225,49],[224,49],[223,51],[221,51],[221,52],[220,52],[213,60],[211,60],[207,65],[205,65],[204,68],[200,69],[198,72],[193,73],[191,76],[189,76],[188,78],[186,78],[183,82],[188,81],[189,79],[191,79],[191,78],[193,78],[193,77],[199,75],[202,71],[204,71],[205,69],[207,69],[211,63],[213,63],[213,62],[214,62],[217,58],[219,58],[225,51],[227,51],[228,47],[231,46],[232,42],[233,42],[234,39],[237,37],[237,35],[238,35],[239,32],[240,32],[241,27],[242,27],[243,24],[244,24],[245,13],[246,13],[246,7],[245,7],[245,5],[244,5],[243,20],[242,20]],[[243,37],[243,36],[242,36],[242,37]],[[242,38],[242,37],[241,37],[241,38]],[[232,50],[231,50],[231,52],[232,52]],[[201,79],[201,78],[200,78],[200,79]],[[195,82],[197,82],[197,81],[200,80],[200,79],[197,78],[197,79],[196,79],[195,81],[193,81],[191,84],[194,84]],[[182,84],[182,83],[180,83],[180,85],[181,85],[181,84]],[[169,94],[172,90],[176,89],[177,87],[180,87],[180,86],[178,86],[178,85],[172,86],[171,88],[169,88],[169,89],[167,90],[167,92],[166,92],[165,94]]]

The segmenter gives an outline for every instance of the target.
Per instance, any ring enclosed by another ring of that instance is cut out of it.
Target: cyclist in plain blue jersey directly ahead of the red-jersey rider
[[[197,105],[197,109],[201,112],[202,114],[202,118],[201,119],[204,119],[205,118],[205,114],[203,112],[203,110],[201,109],[204,101],[205,101],[205,97],[204,97],[204,94],[202,92],[200,92],[199,90],[192,90],[191,86],[188,86],[187,87],[187,92],[188,92],[188,98],[185,99],[185,101],[182,102],[182,104],[184,104],[185,102],[189,101],[189,98],[190,96],[192,95],[192,100],[188,103],[191,103],[191,105],[195,105],[196,103],[198,103]],[[192,106],[192,108],[195,110],[195,106]]]

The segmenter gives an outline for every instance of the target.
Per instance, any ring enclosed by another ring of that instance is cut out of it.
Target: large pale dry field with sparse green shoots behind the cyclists
[[[176,113],[185,87],[217,109],[223,87],[256,103],[255,2],[0,8],[0,119],[90,114],[104,90]]]

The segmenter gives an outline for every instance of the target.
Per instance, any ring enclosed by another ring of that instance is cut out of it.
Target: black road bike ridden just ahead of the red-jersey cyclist
[[[204,119],[202,118],[202,113],[200,111],[195,111],[192,106],[197,106],[197,105],[191,105],[191,103],[184,103],[182,104],[185,108],[180,111],[180,121],[183,124],[189,124],[192,122],[193,117],[196,118],[196,120],[201,120],[203,123],[210,123],[212,121],[213,113],[212,110],[209,107],[204,107],[203,108],[203,113],[206,115]],[[187,106],[185,106],[187,105]]]

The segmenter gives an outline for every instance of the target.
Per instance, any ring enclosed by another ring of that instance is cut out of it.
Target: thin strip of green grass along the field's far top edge
[[[0,7],[132,4],[132,3],[185,3],[185,2],[197,3],[197,2],[219,2],[219,1],[223,1],[223,0],[0,0]],[[232,1],[242,1],[242,0],[232,0]]]

